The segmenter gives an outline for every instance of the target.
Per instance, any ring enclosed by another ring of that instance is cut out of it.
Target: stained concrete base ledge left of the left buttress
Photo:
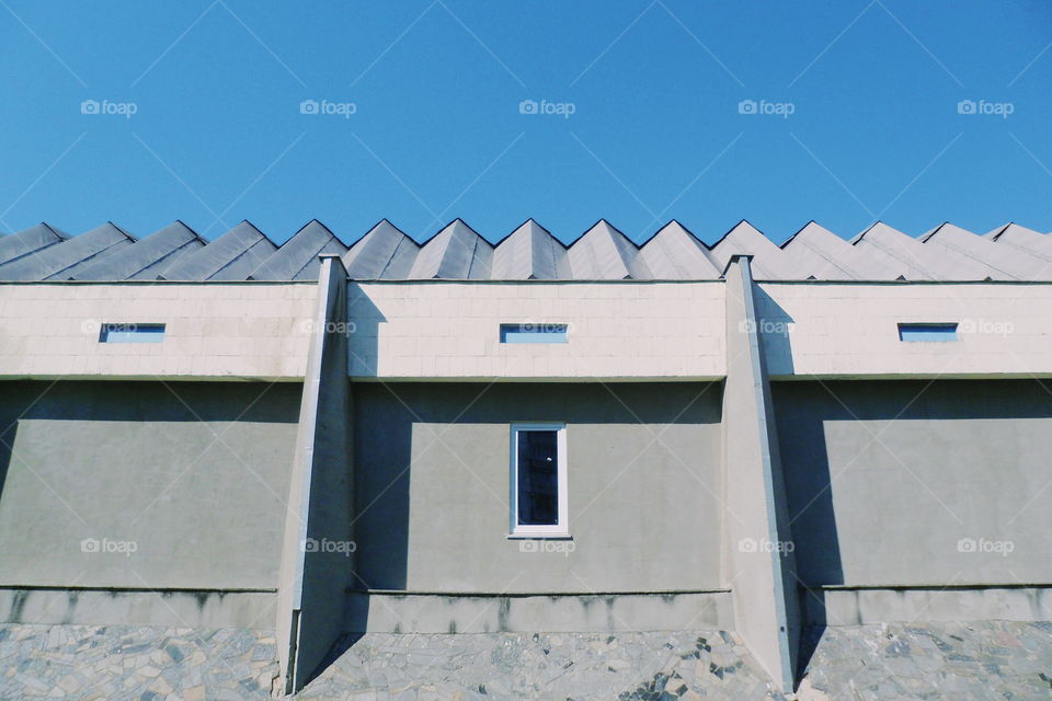
[[[273,630],[275,589],[0,588],[0,623]]]

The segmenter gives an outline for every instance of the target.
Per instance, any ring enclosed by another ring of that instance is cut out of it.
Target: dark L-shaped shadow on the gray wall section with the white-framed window
[[[411,462],[425,453],[446,450],[441,440],[420,444],[422,436],[431,435],[428,429],[421,433],[422,425],[438,426],[441,432],[442,425],[449,424],[510,425],[521,421],[570,425],[720,422],[718,395],[713,400],[711,393],[705,393],[705,401],[690,401],[698,395],[698,383],[356,382],[354,388],[358,547],[357,581],[351,586],[357,590],[407,587]],[[712,388],[718,391],[718,386]],[[414,427],[418,445],[413,441]],[[479,464],[492,464],[492,443],[458,447],[464,460]],[[507,460],[506,451],[504,444],[500,460]],[[451,509],[471,506],[448,505]],[[455,544],[449,548],[451,554],[456,552]]]

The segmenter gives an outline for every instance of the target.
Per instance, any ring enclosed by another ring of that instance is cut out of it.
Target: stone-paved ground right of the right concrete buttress
[[[809,670],[801,699],[1048,700],[1052,623],[828,628]]]

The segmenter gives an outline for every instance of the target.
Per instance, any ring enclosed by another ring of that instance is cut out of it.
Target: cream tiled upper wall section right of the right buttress
[[[1052,372],[1052,285],[763,283],[771,376]],[[904,343],[899,323],[958,324],[956,342]]]

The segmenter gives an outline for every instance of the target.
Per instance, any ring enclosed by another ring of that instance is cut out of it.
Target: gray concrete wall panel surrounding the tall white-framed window
[[[718,383],[355,383],[358,587],[720,586]],[[508,540],[513,422],[565,422],[572,541]]]

